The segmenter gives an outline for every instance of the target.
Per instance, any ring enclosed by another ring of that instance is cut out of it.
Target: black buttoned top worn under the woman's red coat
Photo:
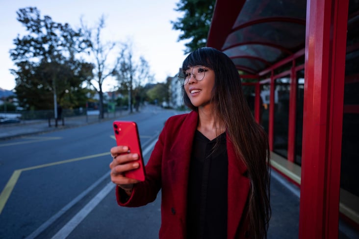
[[[210,141],[197,130],[188,178],[188,239],[227,238],[227,187],[226,133]]]

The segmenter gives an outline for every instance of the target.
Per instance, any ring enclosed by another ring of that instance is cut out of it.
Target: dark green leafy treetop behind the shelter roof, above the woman
[[[176,4],[175,10],[183,12],[184,15],[171,23],[173,29],[182,31],[178,41],[190,40],[184,44],[185,54],[205,47],[215,2],[215,0],[180,0]]]

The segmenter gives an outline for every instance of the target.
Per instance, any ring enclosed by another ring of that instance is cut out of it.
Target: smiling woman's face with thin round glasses
[[[189,67],[185,71],[184,90],[195,107],[209,105],[214,87],[214,71],[203,66]]]

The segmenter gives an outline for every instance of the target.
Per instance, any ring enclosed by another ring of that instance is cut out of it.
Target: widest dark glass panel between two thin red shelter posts
[[[290,76],[277,78],[275,80],[275,86],[273,151],[287,158]]]

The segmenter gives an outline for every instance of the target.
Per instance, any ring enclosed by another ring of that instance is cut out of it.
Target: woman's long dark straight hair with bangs
[[[238,158],[243,160],[248,169],[251,181],[248,197],[251,238],[267,238],[271,215],[268,137],[251,113],[232,60],[214,48],[199,48],[186,57],[182,69],[197,65],[208,67],[215,73],[211,99],[213,114],[215,119],[225,123]],[[190,109],[198,111],[184,90],[183,101]]]

